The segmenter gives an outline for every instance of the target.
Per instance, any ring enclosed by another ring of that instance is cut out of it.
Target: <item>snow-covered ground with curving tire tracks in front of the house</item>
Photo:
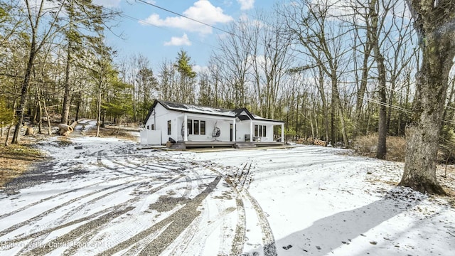
[[[60,139],[1,191],[0,255],[455,255],[454,207],[395,187],[399,163]]]

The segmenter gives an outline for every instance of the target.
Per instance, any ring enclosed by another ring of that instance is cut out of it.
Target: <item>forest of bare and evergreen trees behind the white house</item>
[[[247,107],[284,120],[290,137],[349,144],[378,134],[384,158],[387,135],[404,136],[415,114],[422,42],[403,1],[284,1],[223,28],[198,72],[185,50],[158,65],[141,53],[119,57],[105,35],[121,21],[90,0],[1,1],[1,125],[17,131],[23,117],[40,131],[49,119],[141,123],[161,99]],[[451,73],[446,140],[454,80]]]

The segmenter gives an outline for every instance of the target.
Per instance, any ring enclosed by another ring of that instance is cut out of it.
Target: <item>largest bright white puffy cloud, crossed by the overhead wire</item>
[[[228,23],[233,20],[231,16],[223,14],[223,9],[213,6],[208,0],[199,0],[190,8],[183,11],[183,16],[193,18],[208,25],[215,25],[216,23]],[[151,14],[141,23],[144,25],[154,25],[169,28],[181,28],[185,31],[198,32],[198,33],[212,33],[210,26],[205,26],[196,21],[191,21],[188,18],[181,16],[160,18],[159,14]]]

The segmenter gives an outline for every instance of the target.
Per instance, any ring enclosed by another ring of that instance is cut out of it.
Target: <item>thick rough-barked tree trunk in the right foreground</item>
[[[455,2],[409,0],[419,37],[422,66],[417,74],[412,123],[406,129],[401,186],[444,194],[436,177],[437,151],[449,73],[455,57]]]

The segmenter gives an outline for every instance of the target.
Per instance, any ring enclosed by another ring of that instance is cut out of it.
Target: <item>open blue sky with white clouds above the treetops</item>
[[[272,9],[274,0],[144,0],[163,9],[191,17],[216,28],[225,29],[242,15],[255,15],[256,9]],[[109,9],[124,13],[107,43],[119,56],[139,54],[149,58],[156,70],[165,59],[175,60],[183,49],[196,68],[207,65],[210,53],[218,47],[223,31],[203,26],[137,0],[94,0]],[[129,17],[128,17],[129,16]]]

